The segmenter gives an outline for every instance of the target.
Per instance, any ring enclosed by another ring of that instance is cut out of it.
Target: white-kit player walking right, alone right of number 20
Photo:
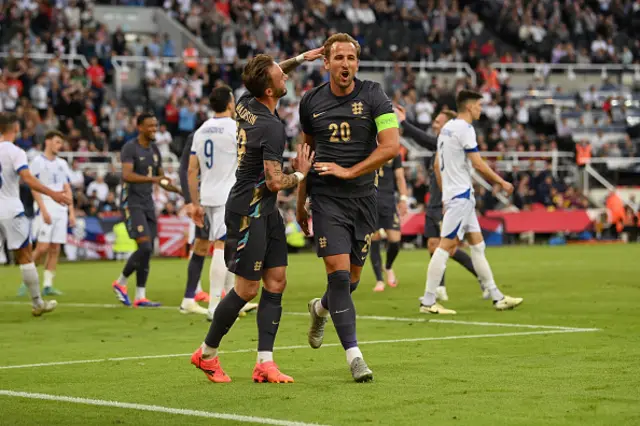
[[[433,167],[438,184],[442,187],[444,218],[440,244],[433,253],[427,270],[426,289],[420,304],[422,313],[456,313],[436,303],[436,290],[442,281],[449,256],[465,236],[471,248],[473,267],[482,287],[489,291],[495,309],[513,309],[522,303],[522,298],[505,296],[496,286],[484,254],[485,243],[476,216],[472,168],[491,182],[499,184],[507,194],[513,192],[513,185],[491,170],[478,152],[476,132],[471,123],[480,118],[481,100],[480,93],[460,91],[456,97],[458,118],[448,121],[438,136],[438,152]]]

